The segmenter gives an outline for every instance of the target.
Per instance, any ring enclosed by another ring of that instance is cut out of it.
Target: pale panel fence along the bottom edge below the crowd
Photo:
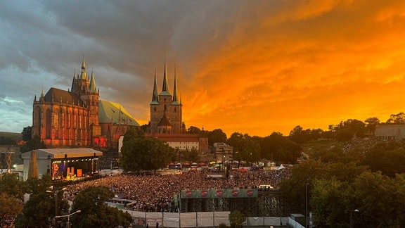
[[[194,213],[165,213],[165,212],[139,212],[123,210],[134,219],[137,227],[218,227],[219,224],[230,225],[229,211],[194,212]],[[244,225],[249,227],[285,226],[288,217],[247,217]]]

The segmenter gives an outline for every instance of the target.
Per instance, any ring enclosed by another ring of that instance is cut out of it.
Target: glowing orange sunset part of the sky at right
[[[268,4],[239,6],[226,39],[215,27],[180,63],[187,127],[264,137],[405,111],[405,1]]]

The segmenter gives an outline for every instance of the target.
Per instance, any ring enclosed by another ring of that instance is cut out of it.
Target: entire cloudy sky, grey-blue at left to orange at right
[[[0,132],[94,72],[143,125],[174,69],[186,127],[265,137],[405,112],[405,1],[30,1],[0,8]]]

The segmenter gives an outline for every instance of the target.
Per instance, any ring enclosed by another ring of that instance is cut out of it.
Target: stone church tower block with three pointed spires
[[[160,94],[158,94],[158,89],[156,87],[156,70],[155,70],[153,95],[152,101],[150,102],[149,132],[160,134],[184,133],[181,107],[182,105],[181,102],[178,101],[177,95],[176,69],[174,69],[174,87],[172,95],[169,92],[169,84],[167,80],[167,66],[165,58],[163,84],[162,84],[162,91],[160,92]],[[168,131],[166,128],[162,128],[163,122],[165,123],[165,126],[170,125],[171,130]]]

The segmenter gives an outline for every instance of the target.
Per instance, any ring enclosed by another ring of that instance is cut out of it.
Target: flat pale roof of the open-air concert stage
[[[36,149],[37,159],[57,159],[57,158],[83,158],[93,156],[103,156],[103,152],[92,148],[51,148]],[[30,159],[31,151],[21,155],[23,159]]]

